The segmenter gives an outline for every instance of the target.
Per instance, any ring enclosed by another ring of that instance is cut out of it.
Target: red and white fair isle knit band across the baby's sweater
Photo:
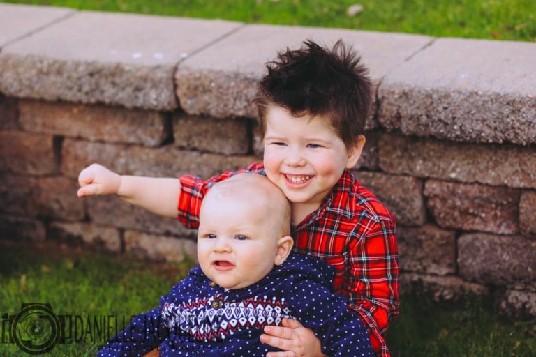
[[[178,328],[183,335],[190,335],[194,340],[215,342],[225,340],[227,335],[244,328],[281,326],[283,318],[294,318],[286,307],[285,298],[278,301],[275,296],[255,296],[239,303],[223,303],[216,309],[212,307],[223,298],[214,294],[209,298],[188,300],[181,305],[165,303],[163,324],[170,329]]]

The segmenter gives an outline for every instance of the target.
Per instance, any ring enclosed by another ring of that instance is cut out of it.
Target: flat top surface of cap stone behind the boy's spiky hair
[[[371,77],[378,80],[433,38],[350,29],[247,25],[193,58],[186,59],[179,70],[223,70],[260,75],[265,73],[265,63],[274,59],[278,51],[285,50],[286,47],[298,48],[306,39],[328,47],[342,39],[362,54]]]

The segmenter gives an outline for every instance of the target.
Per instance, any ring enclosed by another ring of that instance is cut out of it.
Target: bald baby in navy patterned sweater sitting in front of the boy
[[[283,318],[312,328],[329,356],[373,356],[364,325],[333,293],[333,269],[290,254],[288,234],[290,205],[267,178],[217,183],[201,206],[200,266],[98,356],[142,356],[159,346],[160,356],[264,357],[276,349],[260,342],[262,328]]]

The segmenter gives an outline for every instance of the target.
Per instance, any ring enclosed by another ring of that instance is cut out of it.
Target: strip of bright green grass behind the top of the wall
[[[289,24],[430,36],[536,41],[534,0],[8,0],[66,6],[80,10],[120,11],[225,19],[248,24]],[[359,3],[362,13],[346,15]]]

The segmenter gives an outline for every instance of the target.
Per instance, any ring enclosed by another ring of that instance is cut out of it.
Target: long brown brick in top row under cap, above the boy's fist
[[[158,146],[170,135],[162,112],[37,100],[20,100],[19,112],[29,132],[145,146]]]

